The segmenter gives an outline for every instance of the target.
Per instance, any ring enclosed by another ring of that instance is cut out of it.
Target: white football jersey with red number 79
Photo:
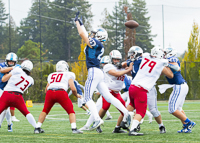
[[[131,84],[151,90],[167,65],[167,59],[153,58],[149,53],[143,54],[139,70]]]

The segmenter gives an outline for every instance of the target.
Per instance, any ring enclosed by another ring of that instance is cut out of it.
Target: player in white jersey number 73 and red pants
[[[33,115],[28,111],[23,93],[34,84],[33,78],[30,76],[33,69],[33,63],[25,60],[21,64],[21,68],[15,67],[10,73],[2,77],[2,82],[8,81],[4,88],[4,92],[0,98],[0,113],[8,107],[17,108],[28,120],[28,122],[35,128],[36,121]]]

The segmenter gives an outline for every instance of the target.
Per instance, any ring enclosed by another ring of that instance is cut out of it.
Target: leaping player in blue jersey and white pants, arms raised
[[[119,100],[112,96],[109,92],[108,87],[104,83],[104,74],[100,69],[100,60],[104,53],[103,42],[108,38],[107,31],[103,28],[98,28],[91,31],[91,37],[88,38],[88,33],[80,19],[78,19],[79,12],[75,17],[77,30],[81,38],[85,41],[87,46],[85,47],[86,65],[88,69],[88,77],[85,82],[84,98],[88,105],[91,115],[94,116],[94,124],[91,130],[99,127],[104,123],[100,118],[94,101],[92,100],[93,93],[97,88],[101,95],[106,99],[107,102],[112,103],[120,111],[122,111],[127,118],[127,126],[130,126],[131,115],[128,110],[121,104]]]

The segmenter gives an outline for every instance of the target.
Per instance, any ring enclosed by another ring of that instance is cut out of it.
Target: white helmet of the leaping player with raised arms
[[[101,42],[105,42],[108,38],[108,33],[104,28],[97,28],[92,30],[91,33],[94,33],[94,38]]]

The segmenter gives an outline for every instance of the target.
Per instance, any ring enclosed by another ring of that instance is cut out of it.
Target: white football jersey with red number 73
[[[17,91],[24,93],[34,84],[34,80],[31,76],[27,75],[21,68],[16,67],[11,72],[12,76],[8,80],[7,85],[4,88],[4,91]]]

